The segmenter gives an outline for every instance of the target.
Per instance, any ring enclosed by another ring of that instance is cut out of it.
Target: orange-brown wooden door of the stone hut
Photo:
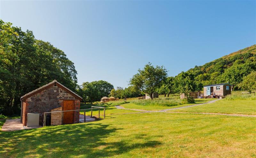
[[[63,111],[74,110],[73,100],[64,100]],[[63,112],[63,124],[72,124],[74,122],[74,111]]]

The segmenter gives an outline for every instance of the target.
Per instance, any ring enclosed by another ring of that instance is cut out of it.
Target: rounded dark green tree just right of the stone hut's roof
[[[108,96],[114,86],[107,81],[84,82],[81,86],[82,97],[84,102],[93,103],[100,101],[102,97]]]

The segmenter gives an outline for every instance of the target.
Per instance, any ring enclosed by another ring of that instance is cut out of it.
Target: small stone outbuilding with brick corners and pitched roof
[[[39,113],[39,125],[44,122],[44,112],[59,108],[62,111],[79,110],[82,97],[78,96],[56,80],[20,98],[23,126],[27,126],[28,113]],[[79,123],[79,111],[64,112],[62,124]]]

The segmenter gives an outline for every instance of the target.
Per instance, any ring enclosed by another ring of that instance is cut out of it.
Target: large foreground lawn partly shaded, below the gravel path
[[[255,122],[200,114],[115,115],[1,132],[0,157],[256,157]]]

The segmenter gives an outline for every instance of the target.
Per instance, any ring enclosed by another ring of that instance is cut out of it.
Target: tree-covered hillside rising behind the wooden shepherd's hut
[[[237,84],[243,77],[256,71],[256,45],[225,55],[202,66],[195,66],[188,71],[195,74],[197,82],[206,84],[230,83],[239,89]]]

